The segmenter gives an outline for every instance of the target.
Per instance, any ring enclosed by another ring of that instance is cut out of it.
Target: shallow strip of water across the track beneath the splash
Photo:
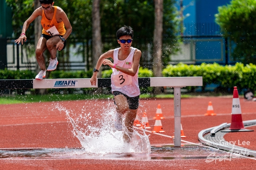
[[[218,149],[184,145],[184,147],[152,146],[150,153],[108,153],[91,154],[85,149],[1,149],[0,158],[23,159],[119,159],[119,160],[172,160],[207,159],[209,155],[228,157],[227,152]]]

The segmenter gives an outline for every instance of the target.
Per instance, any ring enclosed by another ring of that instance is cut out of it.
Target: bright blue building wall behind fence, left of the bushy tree
[[[215,23],[218,7],[230,4],[231,0],[183,0],[183,37],[190,41],[191,58],[195,64],[219,63],[234,64],[230,48],[226,48],[227,39]],[[177,0],[180,10],[180,0]],[[227,52],[227,53],[226,53]]]

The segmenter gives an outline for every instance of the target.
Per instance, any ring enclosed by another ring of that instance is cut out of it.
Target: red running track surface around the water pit
[[[208,103],[212,102],[216,116],[204,116]],[[65,102],[40,102],[30,104],[0,105],[0,149],[6,148],[81,148],[79,140],[73,137],[72,126],[67,122],[64,112],[52,107],[56,104],[73,110],[91,109],[91,112],[104,111],[106,103],[112,100],[78,100]],[[157,105],[160,104],[166,119],[161,120],[166,133],[174,134],[174,109],[172,99],[140,100],[139,118],[146,111],[149,124],[154,127]],[[256,119],[256,102],[240,99],[242,119]],[[186,135],[185,141],[198,143],[198,133],[221,123],[231,122],[232,97],[198,97],[181,100],[181,123]],[[228,133],[226,141],[250,141],[244,147],[256,150],[254,132]],[[159,135],[150,135],[151,145],[170,145],[172,139]],[[216,163],[206,163],[204,159],[186,160],[114,160],[114,159],[25,159],[1,158],[0,169],[254,169],[256,160],[249,158],[233,158]],[[244,166],[241,166],[244,165]]]

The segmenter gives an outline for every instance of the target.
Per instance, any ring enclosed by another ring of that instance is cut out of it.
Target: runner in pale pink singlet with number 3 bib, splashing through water
[[[116,37],[120,48],[109,50],[100,56],[90,81],[96,86],[97,73],[102,64],[112,68],[111,88],[116,104],[114,127],[119,131],[123,130],[123,139],[129,142],[139,106],[138,68],[141,51],[131,47],[133,38],[131,27],[121,27],[116,32]],[[108,58],[111,58],[113,63]],[[122,117],[124,117],[124,122],[122,122]]]

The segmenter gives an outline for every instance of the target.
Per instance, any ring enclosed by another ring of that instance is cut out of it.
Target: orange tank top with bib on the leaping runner
[[[42,14],[41,25],[43,27],[42,34],[51,35],[52,37],[56,35],[64,35],[66,29],[63,21],[57,22],[56,20],[57,6],[54,6],[54,14],[52,20],[48,20],[44,14]]]

